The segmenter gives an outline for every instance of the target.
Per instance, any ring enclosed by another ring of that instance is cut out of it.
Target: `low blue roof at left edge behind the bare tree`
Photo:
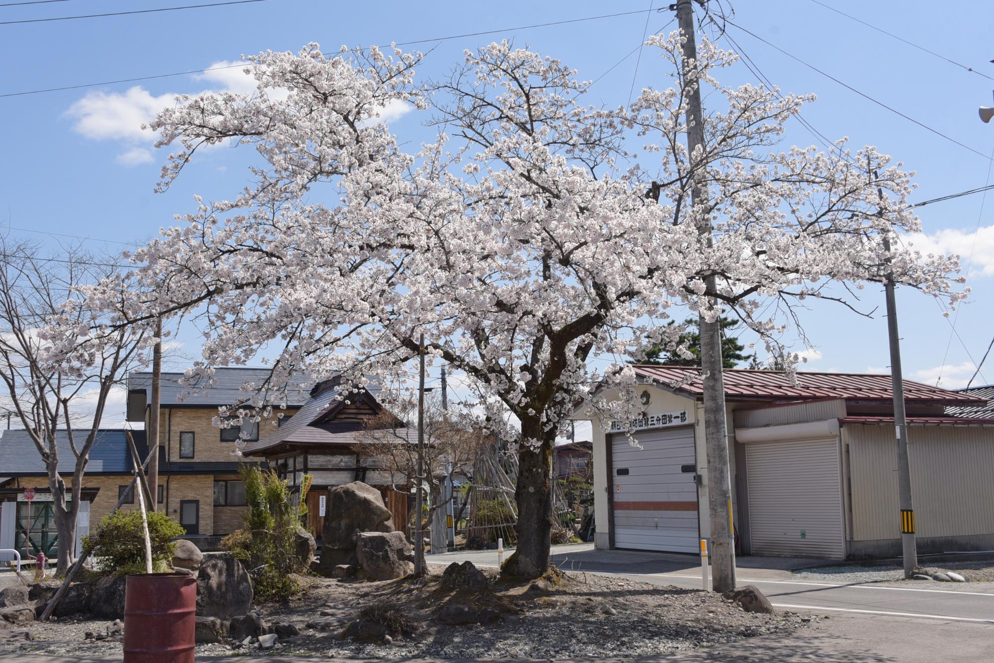
[[[45,474],[45,463],[42,461],[38,448],[32,442],[31,436],[22,429],[11,429],[0,432],[0,467],[5,475]],[[148,453],[145,444],[144,431],[131,431],[138,455]],[[77,448],[83,444],[84,436],[74,435]],[[69,446],[69,437],[65,431],[56,434],[56,444],[59,450],[59,471],[72,473],[76,469],[76,456]],[[127,439],[122,429],[100,429],[96,433],[96,441],[89,451],[89,463],[86,473],[130,473],[132,471],[131,453],[128,451]]]

